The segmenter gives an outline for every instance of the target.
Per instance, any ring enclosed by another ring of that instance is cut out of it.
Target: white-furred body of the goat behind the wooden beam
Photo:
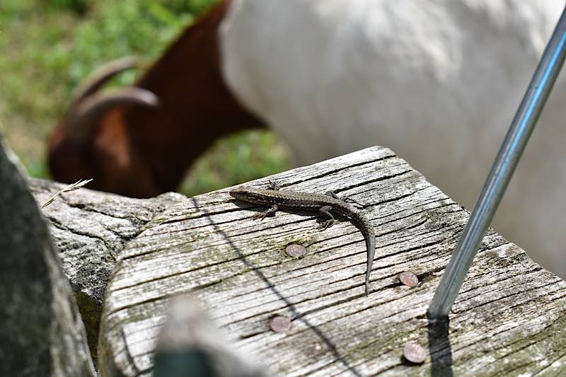
[[[382,145],[471,208],[563,0],[233,0],[223,70],[313,163]],[[566,277],[560,80],[494,227]]]

